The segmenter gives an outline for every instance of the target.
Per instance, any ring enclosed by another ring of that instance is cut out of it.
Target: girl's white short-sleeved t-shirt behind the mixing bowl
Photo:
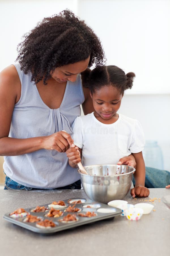
[[[72,129],[74,144],[82,148],[83,166],[116,164],[123,156],[141,152],[145,145],[139,121],[122,114],[112,124],[101,123],[94,112],[78,116]]]

